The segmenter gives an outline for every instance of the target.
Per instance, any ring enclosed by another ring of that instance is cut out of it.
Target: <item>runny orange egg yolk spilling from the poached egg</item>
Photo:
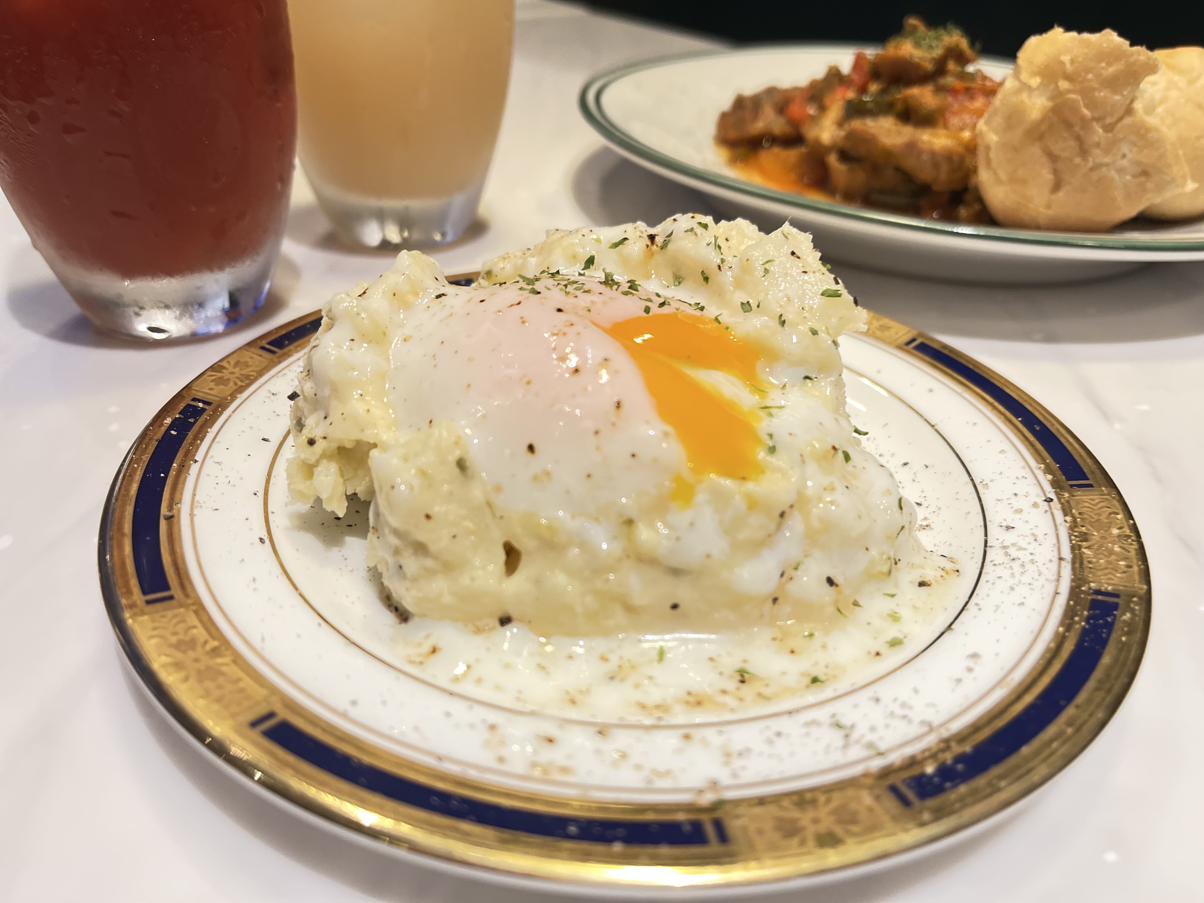
[[[757,452],[765,444],[756,412],[725,397],[687,368],[718,370],[757,385],[757,354],[730,330],[695,313],[645,314],[601,326],[636,361],[656,413],[685,448],[690,474],[674,482],[673,501],[689,504],[694,483],[707,474],[752,479],[763,473]]]

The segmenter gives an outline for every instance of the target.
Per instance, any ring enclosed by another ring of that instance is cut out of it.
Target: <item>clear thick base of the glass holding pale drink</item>
[[[450,197],[395,200],[349,194],[313,179],[313,193],[343,241],[361,248],[402,250],[455,241],[477,218],[478,179]]]

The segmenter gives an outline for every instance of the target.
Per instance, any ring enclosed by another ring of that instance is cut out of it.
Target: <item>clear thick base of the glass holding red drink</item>
[[[108,332],[164,340],[222,332],[258,311],[267,296],[279,242],[249,261],[189,276],[123,279],[46,255],[75,302]]]

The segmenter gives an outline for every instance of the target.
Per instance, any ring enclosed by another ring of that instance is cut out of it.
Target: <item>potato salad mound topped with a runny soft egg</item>
[[[371,500],[368,563],[406,612],[805,625],[925,555],[845,414],[839,338],[864,312],[789,225],[551,231],[472,287],[403,252],[324,313],[289,486],[336,514]]]

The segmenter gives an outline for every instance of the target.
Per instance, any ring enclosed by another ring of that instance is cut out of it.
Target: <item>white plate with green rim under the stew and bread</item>
[[[1143,262],[1204,260],[1204,219],[1133,220],[1110,232],[963,225],[803,197],[748,182],[714,144],[715,120],[737,93],[805,84],[830,65],[848,71],[854,45],[751,47],[645,60],[582,88],[586,122],[615,150],[714,197],[728,216],[772,230],[789,219],[825,256],[875,270],[968,282],[1069,282]],[[984,58],[995,78],[1011,69]]]

